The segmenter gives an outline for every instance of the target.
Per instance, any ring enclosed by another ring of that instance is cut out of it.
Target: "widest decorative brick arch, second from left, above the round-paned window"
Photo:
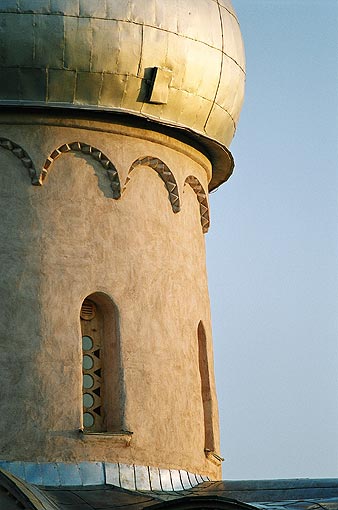
[[[82,142],[65,143],[51,153],[51,155],[46,159],[46,162],[40,174],[41,184],[46,179],[50,167],[52,166],[54,161],[63,154],[66,154],[67,152],[80,152],[84,156],[90,156],[95,161],[98,161],[107,172],[108,178],[110,180],[110,186],[113,192],[113,198],[115,199],[120,198],[121,196],[120,179],[113,163],[110,161],[108,156],[106,156],[102,151],[100,151],[100,149],[97,149],[92,145],[88,145]]]

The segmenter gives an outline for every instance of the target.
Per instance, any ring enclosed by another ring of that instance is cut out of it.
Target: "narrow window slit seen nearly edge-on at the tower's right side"
[[[210,389],[210,374],[207,351],[207,338],[202,321],[197,327],[198,337],[198,362],[201,376],[201,396],[204,415],[204,450],[206,453],[214,452],[215,438],[212,417],[212,399]]]

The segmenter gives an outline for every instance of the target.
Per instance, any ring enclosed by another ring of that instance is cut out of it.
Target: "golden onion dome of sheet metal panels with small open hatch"
[[[1,1],[0,48],[0,105],[137,115],[229,167],[245,82],[230,0]]]

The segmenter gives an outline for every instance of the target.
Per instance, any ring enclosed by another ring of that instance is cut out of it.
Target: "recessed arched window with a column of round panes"
[[[84,432],[119,432],[123,428],[123,374],[118,313],[103,293],[88,296],[80,312]]]

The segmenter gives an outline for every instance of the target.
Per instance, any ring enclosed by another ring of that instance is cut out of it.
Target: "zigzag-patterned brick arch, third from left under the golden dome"
[[[126,181],[124,183],[122,193],[125,191],[126,186],[131,179],[131,177],[130,177],[131,172],[138,166],[149,166],[150,168],[155,170],[155,172],[157,172],[157,174],[159,175],[159,177],[161,177],[162,181],[165,184],[165,187],[168,190],[169,200],[170,200],[171,208],[172,208],[173,212],[174,213],[179,212],[181,210],[181,205],[180,205],[180,196],[179,196],[179,192],[178,192],[178,186],[177,186],[176,179],[175,179],[172,171],[170,170],[170,168],[163,161],[161,161],[159,158],[145,156],[143,158],[136,159],[134,161],[134,163],[131,165],[131,167],[129,168],[128,175],[127,175]]]

